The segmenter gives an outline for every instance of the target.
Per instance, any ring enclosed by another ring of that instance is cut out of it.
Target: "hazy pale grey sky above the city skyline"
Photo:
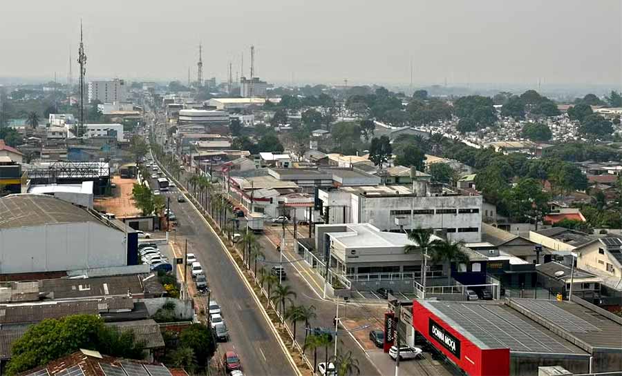
[[[622,83],[621,0],[3,0],[0,77],[296,83]],[[77,67],[73,66],[73,77]]]

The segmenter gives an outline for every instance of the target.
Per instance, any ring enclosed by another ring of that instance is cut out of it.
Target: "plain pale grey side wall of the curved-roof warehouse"
[[[125,233],[94,222],[0,230],[0,273],[126,265]]]

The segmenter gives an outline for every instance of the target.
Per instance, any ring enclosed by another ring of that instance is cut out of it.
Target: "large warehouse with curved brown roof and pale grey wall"
[[[110,268],[138,263],[138,235],[48,195],[0,199],[0,273]]]

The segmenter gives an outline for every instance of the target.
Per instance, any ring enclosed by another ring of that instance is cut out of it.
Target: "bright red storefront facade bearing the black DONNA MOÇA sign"
[[[479,348],[416,300],[413,327],[469,376],[509,375],[509,348]]]

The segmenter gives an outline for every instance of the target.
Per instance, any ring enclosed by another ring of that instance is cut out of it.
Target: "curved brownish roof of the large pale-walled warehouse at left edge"
[[[0,198],[0,228],[96,222],[88,210],[48,195],[8,195]]]

